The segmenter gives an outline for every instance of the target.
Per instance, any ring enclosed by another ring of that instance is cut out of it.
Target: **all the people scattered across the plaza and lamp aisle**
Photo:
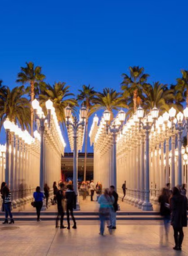
[[[126,196],[126,181],[122,185],[123,196]],[[100,220],[100,232],[103,236],[105,231],[105,223],[107,223],[107,228],[111,234],[112,229],[116,229],[116,212],[118,211],[118,193],[115,191],[115,187],[111,185],[109,189],[103,189],[101,182],[95,183],[93,180],[90,182],[83,182],[79,187],[79,191],[83,197],[86,199],[87,195],[90,195],[91,201],[96,193],[99,203],[99,220]],[[53,184],[53,198],[52,204],[57,205],[57,217],[56,217],[56,228],[67,228],[70,229],[70,215],[73,219],[73,228],[77,228],[77,223],[73,210],[77,207],[77,195],[73,189],[73,182],[63,183],[62,181],[57,183],[54,181]],[[164,232],[166,240],[169,238],[169,227],[170,223],[174,230],[175,247],[173,249],[181,251],[183,243],[183,227],[187,226],[187,190],[186,185],[174,187],[170,189],[170,184],[164,187],[158,197],[158,203],[160,204],[160,215],[163,218]],[[44,193],[41,191],[40,187],[36,187],[34,192],[34,201],[32,205],[36,207],[37,221],[40,221],[40,211],[44,203],[44,198],[46,198],[46,207],[48,207],[48,201],[50,197],[50,187],[44,185]],[[1,211],[5,212],[5,221],[3,224],[13,224],[13,215],[11,213],[11,192],[5,182],[1,184],[1,197],[3,199]],[[67,217],[67,227],[64,226],[64,214],[66,212]],[[8,222],[8,218],[10,218]],[[58,226],[60,218],[60,226]],[[161,230],[161,242],[163,239],[163,230]]]

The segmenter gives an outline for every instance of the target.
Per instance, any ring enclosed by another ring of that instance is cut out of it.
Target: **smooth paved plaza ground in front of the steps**
[[[99,236],[99,222],[78,221],[77,230],[56,229],[54,222],[17,222],[0,225],[0,255],[6,256],[108,256],[188,255],[188,230],[183,251],[173,251],[173,230],[169,243],[160,243],[160,223],[118,222],[113,234]],[[14,228],[10,229],[9,228]]]

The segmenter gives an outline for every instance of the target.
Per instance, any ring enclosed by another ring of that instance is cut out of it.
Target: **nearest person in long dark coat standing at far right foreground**
[[[176,251],[181,251],[183,243],[183,226],[187,226],[187,197],[181,195],[177,187],[173,188],[173,196],[170,200],[171,205],[171,225],[174,229]]]

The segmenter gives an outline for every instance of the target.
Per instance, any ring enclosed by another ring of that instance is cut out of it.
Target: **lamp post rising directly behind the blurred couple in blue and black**
[[[117,135],[122,130],[123,123],[126,119],[126,113],[124,110],[120,110],[118,113],[118,117],[115,118],[113,123],[109,125],[110,121],[110,112],[108,110],[105,110],[103,113],[104,120],[106,123],[106,133],[108,131],[112,134],[112,143],[113,143],[113,148],[112,148],[112,185],[117,189],[117,166],[116,166],[116,148],[117,148]]]

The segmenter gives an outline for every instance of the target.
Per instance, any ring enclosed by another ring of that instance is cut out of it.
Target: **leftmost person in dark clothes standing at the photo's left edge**
[[[9,191],[9,188],[5,186],[3,187],[2,193],[3,203],[5,207],[5,221],[3,222],[3,224],[8,224],[8,217],[11,218],[9,224],[14,224],[13,216],[11,213],[11,192]]]

